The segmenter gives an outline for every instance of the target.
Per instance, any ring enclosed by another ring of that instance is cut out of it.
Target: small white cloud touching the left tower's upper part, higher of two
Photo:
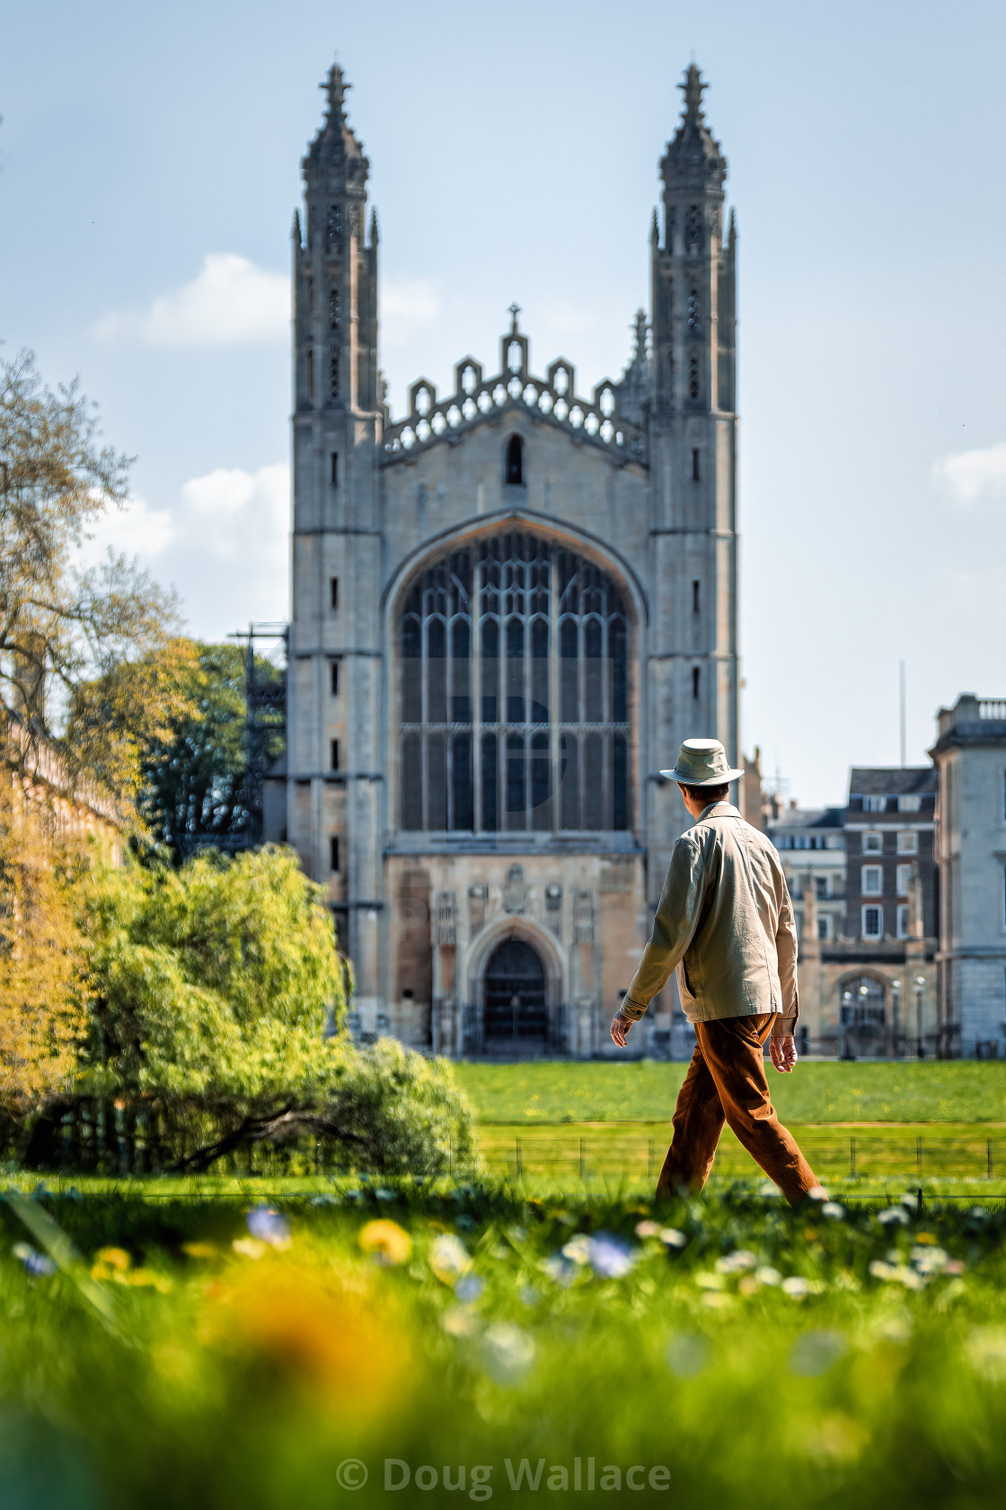
[[[290,335],[290,278],[234,252],[211,252],[181,288],[146,310],[113,310],[100,340],[134,337],[148,346],[253,346]]]

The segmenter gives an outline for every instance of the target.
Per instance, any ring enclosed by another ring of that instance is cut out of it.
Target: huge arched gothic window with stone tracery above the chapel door
[[[532,535],[430,566],[398,622],[403,829],[627,829],[629,643],[615,583]]]

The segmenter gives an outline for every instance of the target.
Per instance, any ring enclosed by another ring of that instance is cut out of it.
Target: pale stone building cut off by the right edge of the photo
[[[937,720],[941,1052],[998,1057],[1006,1036],[1006,699],[962,693]]]

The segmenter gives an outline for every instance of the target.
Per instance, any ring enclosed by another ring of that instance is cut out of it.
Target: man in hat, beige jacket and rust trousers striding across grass
[[[671,853],[650,942],[611,1024],[620,1048],[673,969],[695,1052],[677,1096],[674,1136],[658,1196],[701,1190],[727,1122],[748,1154],[798,1205],[817,1179],[781,1126],[762,1049],[789,1074],[796,1063],[796,927],[775,847],[728,803],[719,740],[685,740],[673,778],[695,820]]]

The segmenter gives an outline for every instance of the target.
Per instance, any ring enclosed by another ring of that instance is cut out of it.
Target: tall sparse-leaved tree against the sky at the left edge
[[[75,384],[50,391],[30,353],[0,361],[0,760],[30,772],[56,752],[71,787],[94,781],[128,805],[134,732],[95,716],[90,692],[158,649],[176,606],[124,556],[78,565],[128,494],[130,459],[97,435]]]

